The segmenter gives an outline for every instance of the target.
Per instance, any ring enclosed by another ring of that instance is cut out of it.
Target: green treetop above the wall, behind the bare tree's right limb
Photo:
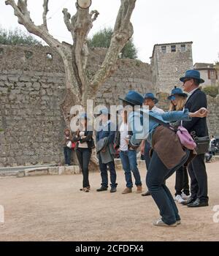
[[[91,39],[88,39],[88,46],[109,48],[112,34],[112,29],[102,29],[94,34]],[[123,53],[123,58],[137,59],[137,48],[134,46],[132,38],[129,39],[121,52]]]

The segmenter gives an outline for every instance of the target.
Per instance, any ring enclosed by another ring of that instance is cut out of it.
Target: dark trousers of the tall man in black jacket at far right
[[[188,165],[188,173],[191,178],[191,197],[208,201],[207,173],[204,164],[204,154],[198,154]]]

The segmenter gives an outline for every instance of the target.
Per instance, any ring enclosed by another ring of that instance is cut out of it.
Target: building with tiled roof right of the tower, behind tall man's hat
[[[211,63],[196,63],[194,69],[199,70],[201,78],[204,79],[204,83],[201,86],[216,86],[218,85],[218,70],[214,64]]]

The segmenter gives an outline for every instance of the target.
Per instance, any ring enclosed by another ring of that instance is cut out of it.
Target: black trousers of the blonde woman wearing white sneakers
[[[181,195],[184,192],[185,195],[190,195],[188,185],[188,172],[187,167],[181,166],[176,171],[176,183],[175,183],[175,195]]]

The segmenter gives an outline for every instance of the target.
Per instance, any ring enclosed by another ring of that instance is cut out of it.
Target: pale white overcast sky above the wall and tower
[[[42,0],[28,0],[34,23],[42,23]],[[50,0],[48,27],[60,41],[72,42],[63,20],[62,10],[75,13],[75,0]],[[93,0],[90,10],[98,10],[90,36],[113,27],[120,0]],[[0,26],[14,29],[18,24],[12,7],[0,0]],[[134,25],[134,44],[140,60],[150,62],[153,45],[166,42],[193,41],[193,64],[219,61],[219,1],[218,0],[137,0],[131,21]]]

